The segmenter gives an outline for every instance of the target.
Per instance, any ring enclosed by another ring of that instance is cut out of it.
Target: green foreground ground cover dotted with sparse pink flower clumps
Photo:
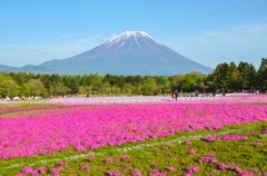
[[[75,160],[57,158],[51,163],[39,162],[30,166],[7,167],[2,174],[265,176],[267,174],[266,130],[265,121],[228,126],[215,131],[187,131],[149,141],[98,148],[95,151],[83,153],[83,157]],[[226,135],[227,131],[229,133]],[[206,135],[217,138],[233,136],[233,138],[214,141],[206,141],[202,139],[205,137],[195,138],[195,136]],[[246,136],[246,138],[240,140],[238,136],[243,136],[241,138]]]

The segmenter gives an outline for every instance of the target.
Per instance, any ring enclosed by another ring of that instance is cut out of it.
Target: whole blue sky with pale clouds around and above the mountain
[[[0,0],[0,65],[63,59],[146,31],[197,62],[267,57],[267,0]]]

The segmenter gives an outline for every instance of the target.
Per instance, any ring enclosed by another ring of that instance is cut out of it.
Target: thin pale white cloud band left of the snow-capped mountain
[[[87,51],[105,41],[106,38],[103,38],[101,35],[96,35],[68,40],[68,42],[39,42],[0,46],[0,65],[17,67],[24,65],[40,65],[43,61],[52,59],[65,59],[72,57],[75,55]]]

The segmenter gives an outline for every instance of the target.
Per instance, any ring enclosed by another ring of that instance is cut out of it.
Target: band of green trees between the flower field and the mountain
[[[175,76],[118,76],[90,74],[60,76],[57,74],[0,72],[0,97],[14,96],[135,96],[168,95],[172,91],[240,92],[267,90],[267,58],[256,70],[251,63],[219,63],[209,75],[190,72]]]

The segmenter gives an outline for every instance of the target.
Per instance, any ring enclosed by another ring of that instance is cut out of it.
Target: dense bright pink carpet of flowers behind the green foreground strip
[[[34,116],[0,118],[0,157],[33,157],[73,147],[77,151],[166,137],[180,131],[219,129],[267,120],[267,107],[235,104],[71,105]]]

